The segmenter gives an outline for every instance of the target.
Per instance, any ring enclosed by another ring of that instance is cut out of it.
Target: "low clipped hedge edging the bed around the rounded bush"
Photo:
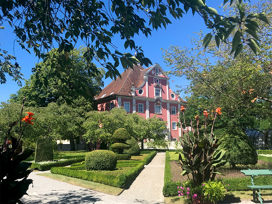
[[[134,177],[140,173],[144,168],[144,165],[148,164],[156,154],[156,151],[151,151],[143,160],[126,160],[120,161],[120,163],[118,162],[117,167],[133,167],[128,172],[118,176],[93,173],[92,171],[79,171],[84,169],[84,164],[80,162],[71,165],[71,167],[53,167],[50,172],[82,180],[103,183],[118,188],[125,188],[125,186],[131,183]]]

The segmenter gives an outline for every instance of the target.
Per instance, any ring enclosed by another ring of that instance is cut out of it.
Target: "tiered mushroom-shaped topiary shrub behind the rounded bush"
[[[123,154],[125,149],[131,148],[130,144],[125,143],[125,141],[127,141],[130,138],[131,136],[125,128],[119,128],[112,135],[112,140],[118,142],[112,144],[111,148],[113,150],[117,150],[118,154]]]

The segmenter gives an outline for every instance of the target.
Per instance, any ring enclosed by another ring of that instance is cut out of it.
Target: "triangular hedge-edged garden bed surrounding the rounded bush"
[[[114,170],[87,171],[85,162],[79,162],[72,164],[71,167],[53,167],[51,173],[124,188],[134,180],[144,165],[148,164],[155,155],[156,151],[151,151],[150,154],[131,156],[129,160],[118,160]]]

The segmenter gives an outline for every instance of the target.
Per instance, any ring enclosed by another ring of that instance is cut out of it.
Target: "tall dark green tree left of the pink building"
[[[66,70],[66,73],[61,74],[62,77],[67,79],[64,83],[60,78],[56,77],[53,73],[56,69],[48,64],[40,62],[40,77],[47,79],[48,86],[40,86],[40,79],[37,79],[37,71],[30,76],[30,79],[25,80],[25,86],[19,89],[17,94],[12,94],[10,101],[21,102],[24,97],[26,97],[26,106],[32,107],[46,107],[49,103],[55,102],[58,105],[65,102],[62,94],[60,93],[60,88],[65,90],[66,100],[79,99],[82,96],[90,96],[88,100],[85,99],[87,104],[92,104],[93,96],[101,91],[104,83],[102,81],[103,74],[105,73],[102,68],[98,68],[100,73],[91,75],[88,72],[87,60],[83,56],[86,51],[86,47],[75,48],[73,50],[73,62]],[[49,52],[50,56],[57,53],[57,50],[51,50]],[[92,66],[95,66],[94,64]],[[73,83],[79,87],[74,89]],[[86,104],[85,104],[86,105]]]

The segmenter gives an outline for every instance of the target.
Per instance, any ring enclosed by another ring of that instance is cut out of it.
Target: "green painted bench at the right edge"
[[[260,193],[260,189],[272,189],[272,183],[271,185],[267,185],[267,186],[255,186],[254,182],[253,182],[253,178],[255,176],[261,176],[261,175],[271,175],[272,176],[272,169],[264,169],[264,170],[241,170],[241,173],[243,173],[245,176],[251,176],[251,185],[252,186],[247,186],[250,189],[253,189],[253,201],[255,201],[256,199],[256,191],[258,192],[258,196],[259,196],[259,200],[261,202],[261,204],[263,204],[263,201],[261,199],[261,193]]]

